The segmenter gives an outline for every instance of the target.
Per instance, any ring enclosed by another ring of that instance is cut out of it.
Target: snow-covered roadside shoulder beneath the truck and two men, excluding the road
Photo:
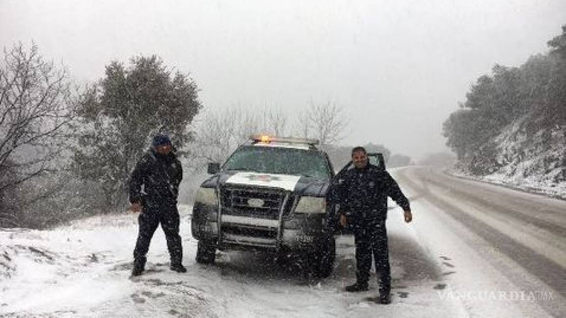
[[[5,317],[457,317],[466,316],[443,288],[435,261],[414,241],[400,213],[391,217],[393,304],[374,302],[375,286],[342,291],[354,278],[354,247],[338,238],[331,277],[315,281],[269,255],[221,253],[216,265],[196,264],[188,210],[181,231],[186,274],[171,272],[165,238],[157,230],[147,270],[130,278],[137,235],[133,214],[76,221],[50,231],[0,231],[0,313]],[[398,212],[398,211],[397,211]],[[411,260],[413,259],[413,260]]]

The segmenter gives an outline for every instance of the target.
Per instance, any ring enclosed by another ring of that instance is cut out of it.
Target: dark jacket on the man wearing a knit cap
[[[164,155],[150,148],[132,171],[130,202],[148,205],[177,204],[182,179],[183,168],[173,152]]]

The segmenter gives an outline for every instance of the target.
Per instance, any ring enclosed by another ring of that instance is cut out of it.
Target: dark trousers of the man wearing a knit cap
[[[171,264],[181,264],[183,258],[183,247],[181,246],[181,235],[179,235],[179,212],[175,205],[154,206],[144,205],[143,212],[138,217],[139,234],[138,242],[134,249],[136,262],[145,264],[145,255],[149,250],[149,243],[157,226],[161,229],[167,239],[167,247],[171,257]]]

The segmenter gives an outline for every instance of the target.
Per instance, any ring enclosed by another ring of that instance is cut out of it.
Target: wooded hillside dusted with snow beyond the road
[[[566,197],[566,25],[547,44],[480,76],[444,122],[461,173]]]

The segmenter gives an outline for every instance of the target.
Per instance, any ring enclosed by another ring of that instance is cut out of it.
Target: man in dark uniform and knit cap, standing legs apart
[[[132,276],[139,276],[145,269],[145,255],[157,226],[167,239],[171,257],[171,270],[185,273],[181,264],[183,249],[179,235],[177,196],[183,169],[177,156],[171,151],[167,135],[153,137],[152,147],[143,154],[132,171],[130,179],[130,210],[140,212],[138,242],[134,249]]]

